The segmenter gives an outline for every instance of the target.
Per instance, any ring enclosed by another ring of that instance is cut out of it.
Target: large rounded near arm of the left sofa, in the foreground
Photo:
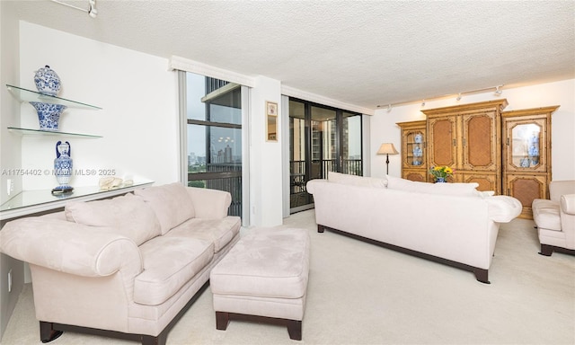
[[[84,277],[118,270],[137,275],[142,259],[136,243],[111,228],[83,226],[47,217],[13,220],[0,230],[0,252],[50,270]]]

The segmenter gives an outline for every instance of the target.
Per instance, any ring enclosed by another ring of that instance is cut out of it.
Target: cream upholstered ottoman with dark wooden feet
[[[304,229],[254,229],[235,243],[211,271],[216,328],[230,319],[288,326],[302,339],[309,273],[309,234]]]

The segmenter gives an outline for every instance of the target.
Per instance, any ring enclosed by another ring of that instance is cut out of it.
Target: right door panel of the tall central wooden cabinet
[[[473,171],[496,171],[499,150],[497,148],[497,124],[495,112],[464,115],[462,168]]]

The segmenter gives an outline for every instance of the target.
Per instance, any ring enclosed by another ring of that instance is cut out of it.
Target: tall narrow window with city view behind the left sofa
[[[184,73],[184,72],[182,72]],[[242,216],[242,87],[185,73],[190,187],[226,190],[228,214]]]

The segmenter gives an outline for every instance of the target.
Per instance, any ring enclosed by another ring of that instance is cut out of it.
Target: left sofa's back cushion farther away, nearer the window
[[[162,226],[162,234],[196,216],[190,195],[181,183],[135,190],[134,194],[144,198],[154,208]]]

